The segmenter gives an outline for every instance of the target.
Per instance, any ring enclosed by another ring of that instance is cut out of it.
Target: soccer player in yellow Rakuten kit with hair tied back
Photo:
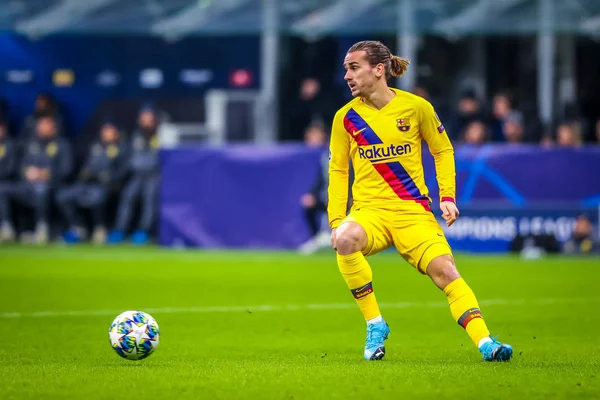
[[[477,299],[459,275],[444,232],[431,211],[423,177],[421,141],[435,159],[442,217],[450,226],[455,203],[454,151],[432,105],[422,97],[389,88],[409,62],[382,43],[354,44],[344,59],[345,80],[354,99],[335,115],[330,143],[329,224],[340,271],[365,320],[364,356],[381,360],[390,328],[375,298],[366,256],[395,246],[448,297],[454,320],[486,361],[507,361],[512,347],[491,337]],[[348,166],[352,160],[353,204],[346,215]]]

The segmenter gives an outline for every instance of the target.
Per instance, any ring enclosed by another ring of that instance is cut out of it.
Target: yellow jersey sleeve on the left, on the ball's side
[[[350,135],[344,128],[344,115],[335,114],[329,143],[329,186],[327,214],[329,226],[337,228],[346,217],[348,207],[348,175],[350,163]]]

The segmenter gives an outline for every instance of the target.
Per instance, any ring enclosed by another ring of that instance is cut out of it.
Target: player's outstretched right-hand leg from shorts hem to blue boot
[[[454,320],[467,331],[473,343],[481,351],[484,360],[510,360],[512,347],[490,336],[475,293],[458,273],[452,255],[439,254],[445,252],[442,246],[432,247],[425,251],[422,265],[425,266],[425,271],[431,280],[448,297]]]

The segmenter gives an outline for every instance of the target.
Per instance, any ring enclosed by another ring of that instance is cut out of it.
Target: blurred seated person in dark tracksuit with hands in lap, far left
[[[25,144],[19,181],[0,188],[0,226],[4,241],[15,238],[11,199],[34,209],[35,241],[39,244],[48,241],[51,194],[68,177],[71,168],[69,142],[58,136],[52,115],[39,115],[36,135]]]

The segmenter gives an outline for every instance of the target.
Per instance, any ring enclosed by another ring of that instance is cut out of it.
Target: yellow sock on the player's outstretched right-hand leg
[[[463,278],[450,282],[444,293],[448,296],[452,316],[478,346],[481,339],[490,335],[490,331],[481,316],[475,294]]]

